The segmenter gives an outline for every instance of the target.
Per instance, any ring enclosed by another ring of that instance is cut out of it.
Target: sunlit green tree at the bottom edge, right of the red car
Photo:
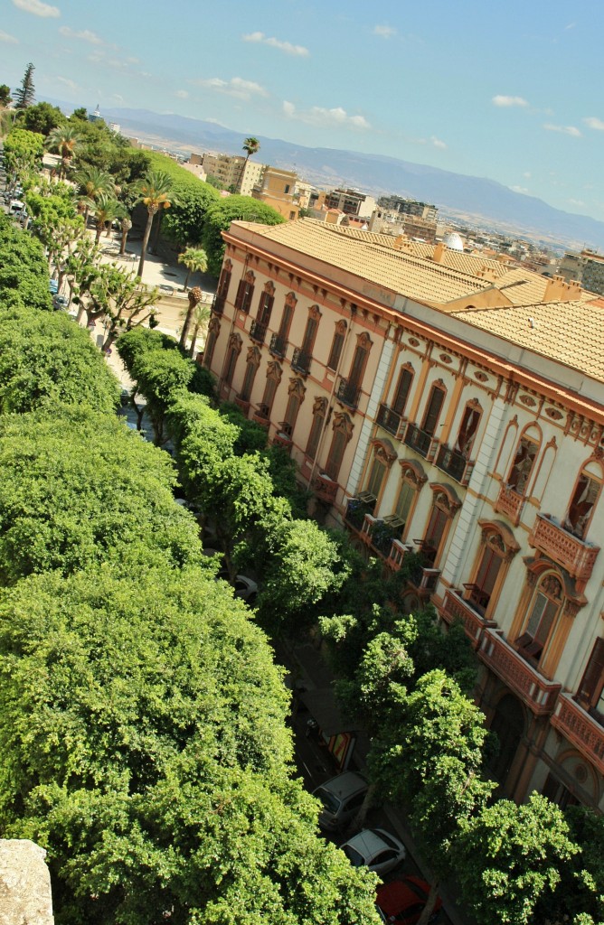
[[[497,800],[460,829],[458,879],[479,925],[529,925],[578,851],[560,808],[538,794],[520,807]]]

